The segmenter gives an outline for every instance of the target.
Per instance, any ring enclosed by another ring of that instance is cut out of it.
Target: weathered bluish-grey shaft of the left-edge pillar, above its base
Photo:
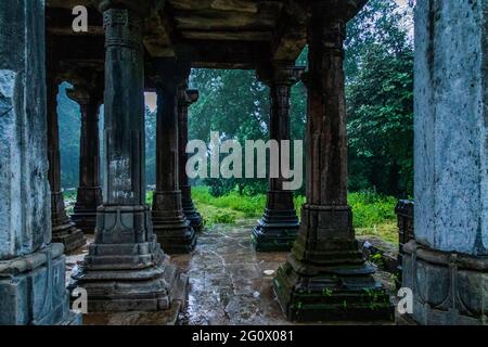
[[[51,241],[43,5],[0,7],[0,259]]]

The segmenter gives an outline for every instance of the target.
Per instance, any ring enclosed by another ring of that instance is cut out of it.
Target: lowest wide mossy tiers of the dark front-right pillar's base
[[[371,267],[317,268],[314,274],[301,273],[304,267],[291,256],[273,280],[273,291],[290,321],[394,320],[390,298],[375,282]]]

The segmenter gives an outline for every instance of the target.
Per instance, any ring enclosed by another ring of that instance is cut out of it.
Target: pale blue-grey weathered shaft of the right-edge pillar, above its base
[[[416,241],[488,255],[488,1],[416,3]]]

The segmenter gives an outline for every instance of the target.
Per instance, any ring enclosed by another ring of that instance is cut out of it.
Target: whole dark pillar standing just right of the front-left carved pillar
[[[156,191],[153,200],[153,224],[157,241],[169,254],[195,248],[196,235],[184,217],[179,183],[178,87],[188,73],[174,59],[156,64]]]

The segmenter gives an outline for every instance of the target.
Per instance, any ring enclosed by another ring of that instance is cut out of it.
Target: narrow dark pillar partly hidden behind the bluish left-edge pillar
[[[63,191],[61,189],[60,133],[57,126],[59,80],[54,74],[48,76],[48,158],[49,183],[51,187],[52,240],[64,244],[65,253],[70,253],[85,245],[81,230],[66,214]]]

